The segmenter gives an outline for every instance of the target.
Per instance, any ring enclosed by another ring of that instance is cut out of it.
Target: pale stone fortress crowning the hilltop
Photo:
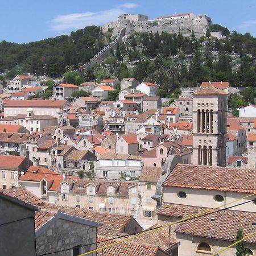
[[[180,32],[184,36],[189,36],[194,31],[196,36],[203,36],[211,23],[212,20],[205,14],[174,14],[153,20],[148,20],[148,16],[142,14],[121,14],[115,22],[104,24],[102,31],[113,29],[113,36],[117,36],[123,28],[126,36],[133,32],[159,32],[159,34]]]

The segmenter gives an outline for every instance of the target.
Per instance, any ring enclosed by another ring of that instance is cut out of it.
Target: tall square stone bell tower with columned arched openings
[[[226,166],[228,93],[209,84],[193,93],[192,163]]]

